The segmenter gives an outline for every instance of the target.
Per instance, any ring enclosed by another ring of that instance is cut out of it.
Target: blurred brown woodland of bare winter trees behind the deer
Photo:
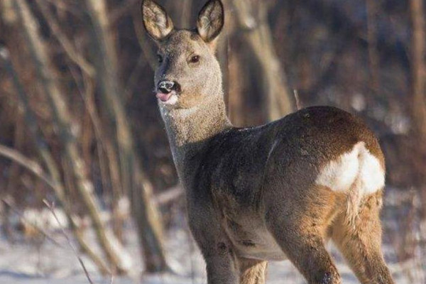
[[[140,2],[0,1],[1,239],[50,241],[57,212],[105,275],[129,273],[130,253],[145,271],[168,271],[165,234],[185,216]],[[204,0],[158,3],[189,28]],[[253,126],[295,111],[295,90],[302,107],[361,116],[387,158],[383,241],[397,263],[411,263],[410,283],[425,283],[424,1],[224,4],[217,54],[231,121]],[[140,254],[126,250],[129,226]]]

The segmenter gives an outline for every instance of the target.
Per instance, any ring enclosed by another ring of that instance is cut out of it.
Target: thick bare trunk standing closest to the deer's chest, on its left
[[[109,34],[107,8],[104,0],[86,0],[92,20],[94,40],[97,47],[95,69],[107,107],[109,124],[115,131],[121,165],[121,184],[128,190],[133,217],[138,226],[138,235],[143,246],[146,269],[150,272],[166,271],[168,265],[163,250],[163,228],[160,214],[152,200],[152,185],[143,173],[138,153],[126,118],[121,94],[124,94],[117,76],[114,43]]]

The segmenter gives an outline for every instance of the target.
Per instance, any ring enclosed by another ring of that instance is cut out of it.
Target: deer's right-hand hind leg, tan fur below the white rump
[[[332,228],[332,240],[364,284],[393,283],[381,253],[381,194],[364,197],[354,220],[346,212],[339,214]]]

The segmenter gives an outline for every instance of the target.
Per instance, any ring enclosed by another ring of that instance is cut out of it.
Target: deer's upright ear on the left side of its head
[[[173,31],[172,19],[165,9],[153,0],[142,1],[143,26],[154,40],[163,40]]]

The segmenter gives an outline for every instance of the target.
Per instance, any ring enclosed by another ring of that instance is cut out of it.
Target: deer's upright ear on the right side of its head
[[[220,0],[209,0],[198,13],[197,31],[209,43],[222,31],[224,26],[224,5]]]

